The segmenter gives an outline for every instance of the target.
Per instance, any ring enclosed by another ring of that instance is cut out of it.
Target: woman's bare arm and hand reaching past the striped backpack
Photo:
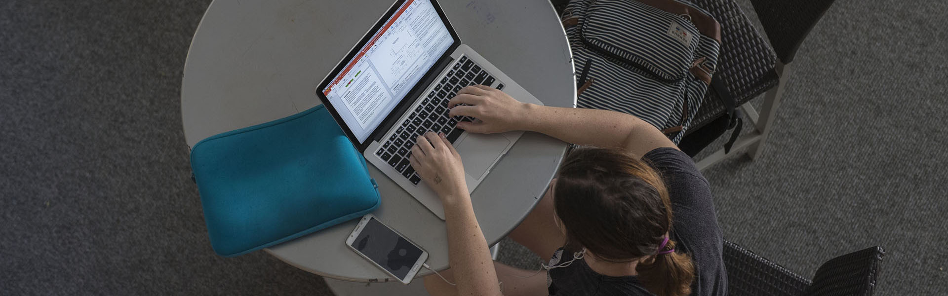
[[[534,131],[575,144],[625,148],[638,157],[659,147],[677,149],[654,126],[629,114],[518,102],[483,85],[465,87],[447,106],[451,116],[477,118],[477,122],[458,123],[474,133]]]

